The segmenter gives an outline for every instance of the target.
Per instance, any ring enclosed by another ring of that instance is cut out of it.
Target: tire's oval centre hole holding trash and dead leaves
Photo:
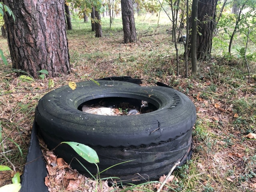
[[[78,106],[78,110],[99,115],[133,115],[156,111],[157,107],[141,99],[104,97],[83,102]]]

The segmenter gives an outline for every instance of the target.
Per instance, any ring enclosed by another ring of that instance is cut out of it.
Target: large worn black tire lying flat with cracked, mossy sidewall
[[[196,110],[187,96],[167,87],[98,82],[99,85],[93,81],[79,82],[75,90],[63,86],[40,99],[35,122],[49,149],[63,141],[88,145],[99,156],[100,171],[133,160],[101,173],[101,177],[119,177],[126,182],[156,180],[169,172],[174,163],[181,161],[183,164],[190,158]],[[84,102],[108,97],[147,101],[157,110],[123,116],[78,110]],[[87,163],[67,145],[60,145],[54,152],[81,173],[88,175],[74,157],[91,173],[97,172],[94,164]]]

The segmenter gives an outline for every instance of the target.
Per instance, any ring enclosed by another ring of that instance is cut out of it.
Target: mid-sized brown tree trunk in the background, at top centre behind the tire
[[[121,0],[124,43],[136,41],[136,29],[132,0]]]

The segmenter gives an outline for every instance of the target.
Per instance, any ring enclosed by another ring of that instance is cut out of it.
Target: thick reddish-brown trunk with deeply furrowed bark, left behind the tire
[[[4,15],[8,46],[14,69],[33,77],[46,69],[50,77],[68,74],[69,53],[64,1],[4,0],[14,13]]]

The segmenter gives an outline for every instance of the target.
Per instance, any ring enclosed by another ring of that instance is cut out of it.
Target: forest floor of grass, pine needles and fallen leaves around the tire
[[[157,19],[136,18],[138,41],[130,44],[123,44],[120,18],[115,18],[111,29],[108,22],[108,18],[102,19],[103,37],[95,38],[90,23],[73,18],[73,30],[68,32],[72,71],[53,78],[54,88],[70,81],[120,75],[140,78],[142,86],[155,85],[157,81],[172,86],[194,102],[197,121],[193,127],[192,158],[172,173],[176,179],[167,183],[172,189],[164,187],[162,191],[255,191],[256,139],[245,137],[256,133],[255,62],[250,62],[254,75],[250,83],[243,59],[227,60],[214,53],[201,64],[196,78],[185,78],[182,57],[180,75],[176,74],[168,22],[157,26]],[[0,38],[0,48],[9,62],[0,67],[0,164],[15,167],[22,174],[35,107],[52,88],[48,87],[48,77],[19,78],[11,69],[6,39]],[[183,55],[184,48],[179,49]],[[12,176],[11,171],[0,172],[0,186],[11,183]],[[98,191],[107,191],[100,186],[104,185],[99,185]],[[52,191],[84,190],[79,187],[67,190],[66,184]],[[135,186],[133,191],[156,191],[157,187],[151,183]]]

